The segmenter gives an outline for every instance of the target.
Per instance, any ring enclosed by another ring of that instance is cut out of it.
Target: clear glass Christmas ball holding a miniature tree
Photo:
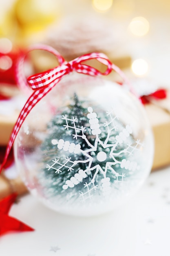
[[[56,211],[111,211],[139,189],[152,167],[144,107],[117,83],[70,74],[26,117],[15,161],[33,195]]]

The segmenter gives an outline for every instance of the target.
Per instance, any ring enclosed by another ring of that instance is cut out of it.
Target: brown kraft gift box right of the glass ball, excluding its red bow
[[[163,97],[163,95],[162,95]],[[152,169],[170,164],[170,91],[164,99],[149,96],[145,104],[155,139],[155,156]]]

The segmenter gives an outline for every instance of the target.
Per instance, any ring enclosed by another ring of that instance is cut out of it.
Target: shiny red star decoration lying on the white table
[[[13,193],[0,201],[0,236],[10,231],[33,231],[34,229],[27,226],[20,220],[17,220],[8,215],[11,205],[17,197]]]

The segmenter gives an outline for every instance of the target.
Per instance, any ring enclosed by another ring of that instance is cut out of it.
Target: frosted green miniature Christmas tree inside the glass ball
[[[137,163],[128,160],[140,146],[113,109],[106,112],[75,94],[48,124],[41,146],[40,183],[49,197],[69,195],[83,200],[109,195],[112,185],[133,175]],[[42,181],[42,182],[41,182]],[[86,191],[86,192],[85,192]]]

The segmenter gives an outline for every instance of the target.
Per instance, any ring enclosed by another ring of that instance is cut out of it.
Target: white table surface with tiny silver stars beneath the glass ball
[[[64,216],[30,194],[9,215],[35,231],[0,237],[0,256],[169,256],[170,167],[152,172],[133,198],[102,216]]]

